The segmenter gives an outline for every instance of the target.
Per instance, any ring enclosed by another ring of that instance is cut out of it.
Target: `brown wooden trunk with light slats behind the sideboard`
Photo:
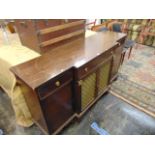
[[[17,19],[21,43],[41,54],[85,34],[83,19]]]

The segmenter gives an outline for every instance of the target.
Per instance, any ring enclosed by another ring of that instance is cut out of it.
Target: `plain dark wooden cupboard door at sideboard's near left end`
[[[52,134],[73,115],[71,84],[48,96],[42,101],[41,106]]]

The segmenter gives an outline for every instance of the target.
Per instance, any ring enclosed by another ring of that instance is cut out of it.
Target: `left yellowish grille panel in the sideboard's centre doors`
[[[82,110],[95,98],[96,73],[92,73],[82,82]]]

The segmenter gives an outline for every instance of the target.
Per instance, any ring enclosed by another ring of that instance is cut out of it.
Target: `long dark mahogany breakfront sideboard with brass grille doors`
[[[57,134],[81,117],[116,78],[126,35],[98,32],[14,66],[34,122]]]

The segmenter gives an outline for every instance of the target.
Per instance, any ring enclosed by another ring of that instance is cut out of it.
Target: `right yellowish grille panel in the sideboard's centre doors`
[[[99,69],[99,79],[98,79],[98,95],[104,91],[108,84],[110,71],[110,62],[103,64]]]

